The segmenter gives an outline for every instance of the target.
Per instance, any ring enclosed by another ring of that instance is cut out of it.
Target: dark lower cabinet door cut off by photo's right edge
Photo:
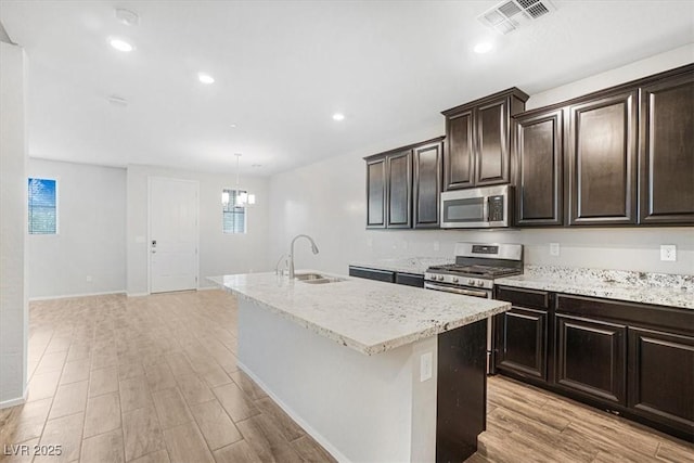
[[[629,407],[694,434],[694,337],[629,327]]]

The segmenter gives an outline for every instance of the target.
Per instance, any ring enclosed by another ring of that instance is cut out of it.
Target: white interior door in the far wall
[[[197,288],[197,190],[150,177],[150,293]]]

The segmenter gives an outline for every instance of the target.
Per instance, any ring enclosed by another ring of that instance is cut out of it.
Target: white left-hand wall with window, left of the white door
[[[28,176],[59,195],[59,233],[28,236],[29,298],[124,292],[126,169],[29,158]]]

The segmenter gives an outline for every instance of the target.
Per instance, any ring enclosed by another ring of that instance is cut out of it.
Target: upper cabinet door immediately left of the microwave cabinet
[[[439,224],[442,143],[414,149],[414,228]]]

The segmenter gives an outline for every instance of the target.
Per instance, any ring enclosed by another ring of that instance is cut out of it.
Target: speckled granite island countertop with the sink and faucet
[[[297,273],[316,272],[313,270]],[[281,317],[365,355],[384,352],[509,310],[510,304],[335,275],[308,284],[248,273],[209,280]]]

